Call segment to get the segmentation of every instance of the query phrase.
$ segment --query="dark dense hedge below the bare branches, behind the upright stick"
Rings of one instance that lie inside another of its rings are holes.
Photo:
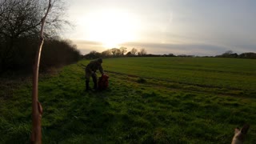
[[[6,45],[6,42],[1,42],[1,50],[5,50]],[[38,39],[18,38],[9,53],[1,54],[1,72],[22,70],[31,73],[37,46]],[[81,54],[72,42],[58,38],[46,39],[42,47],[40,70],[65,66],[78,62],[80,58]]]

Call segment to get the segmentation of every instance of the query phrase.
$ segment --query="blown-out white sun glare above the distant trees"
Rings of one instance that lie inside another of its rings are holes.
[[[86,15],[84,22],[86,40],[102,42],[106,48],[138,38],[138,19],[129,13],[102,10]]]

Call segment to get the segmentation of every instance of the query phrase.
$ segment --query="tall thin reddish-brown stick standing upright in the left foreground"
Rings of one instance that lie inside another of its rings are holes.
[[[42,143],[42,132],[41,132],[41,119],[42,119],[42,106],[40,102],[38,102],[38,71],[40,65],[40,57],[41,50],[43,45],[43,29],[46,22],[46,17],[50,11],[51,3],[49,0],[49,5],[46,10],[45,16],[42,18],[42,26],[40,30],[40,42],[38,44],[38,51],[34,61],[34,69],[33,69],[33,90],[32,90],[32,134],[30,138],[30,142],[34,144]]]

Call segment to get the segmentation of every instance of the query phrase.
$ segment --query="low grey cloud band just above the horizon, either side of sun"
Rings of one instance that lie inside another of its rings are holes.
[[[92,50],[102,52],[106,50],[102,46],[101,42],[92,42],[85,40],[73,40],[73,42],[78,46],[78,50],[82,54],[88,54]],[[197,56],[215,56],[225,53],[227,50],[232,50],[234,53],[245,53],[254,52],[256,53],[256,46],[250,44],[240,44],[234,46],[222,46],[213,45],[206,43],[150,43],[150,42],[125,42],[120,45],[126,46],[128,50],[136,48],[140,50],[144,48],[148,54],[186,54],[186,55],[197,55]]]

